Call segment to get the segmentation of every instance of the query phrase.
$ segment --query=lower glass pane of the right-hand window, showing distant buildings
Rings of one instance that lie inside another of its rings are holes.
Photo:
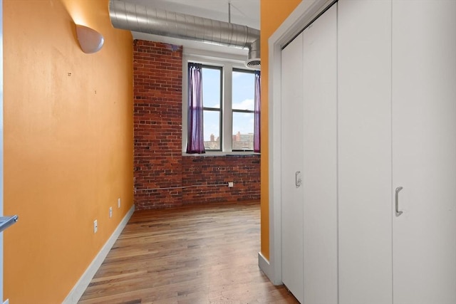
[[[254,150],[254,113],[233,112],[232,150]]]

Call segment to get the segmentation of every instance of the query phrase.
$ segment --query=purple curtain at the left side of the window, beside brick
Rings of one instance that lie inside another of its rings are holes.
[[[202,128],[202,65],[188,64],[188,140],[187,153],[204,153]]]

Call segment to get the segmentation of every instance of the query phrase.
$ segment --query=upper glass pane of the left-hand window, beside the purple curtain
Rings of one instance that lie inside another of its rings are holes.
[[[220,77],[219,68],[202,68],[202,103],[204,108],[220,108]]]

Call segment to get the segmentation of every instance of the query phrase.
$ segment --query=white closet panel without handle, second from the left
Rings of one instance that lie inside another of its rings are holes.
[[[304,303],[331,304],[338,301],[337,5],[303,34]]]

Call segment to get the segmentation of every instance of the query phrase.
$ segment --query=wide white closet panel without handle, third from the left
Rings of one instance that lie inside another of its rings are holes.
[[[340,304],[392,303],[390,54],[391,2],[339,1]]]

